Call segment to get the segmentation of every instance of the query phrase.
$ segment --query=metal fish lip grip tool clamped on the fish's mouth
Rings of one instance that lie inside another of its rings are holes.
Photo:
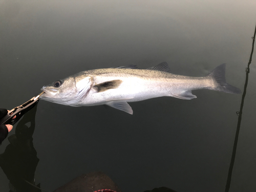
[[[45,93],[44,91],[39,95],[32,97],[27,102],[23,103],[22,105],[16,106],[11,111],[8,112],[6,116],[0,119],[0,124],[11,124],[14,125],[22,116],[31,110],[36,103],[39,101],[39,97]],[[15,117],[16,116],[16,117]],[[15,117],[15,118],[14,118]]]

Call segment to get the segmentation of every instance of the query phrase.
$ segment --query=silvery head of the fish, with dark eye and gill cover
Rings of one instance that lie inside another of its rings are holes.
[[[41,91],[45,93],[40,96],[40,99],[59,104],[78,106],[79,101],[83,97],[86,97],[93,83],[93,77],[78,73],[42,87]]]

